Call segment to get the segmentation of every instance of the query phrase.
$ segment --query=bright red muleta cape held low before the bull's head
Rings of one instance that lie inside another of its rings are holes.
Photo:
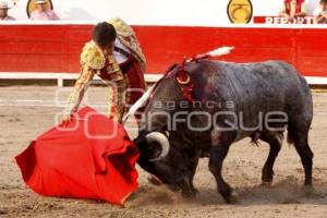
[[[137,158],[123,126],[89,107],[66,128],[51,129],[15,157],[24,181],[38,194],[118,205],[137,189]]]

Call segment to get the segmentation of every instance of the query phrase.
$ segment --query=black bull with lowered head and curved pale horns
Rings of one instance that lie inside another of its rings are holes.
[[[229,203],[233,190],[221,168],[230,145],[247,136],[267,142],[270,150],[262,180],[270,183],[287,129],[288,141],[304,167],[304,183],[312,185],[313,153],[307,137],[313,102],[307,83],[294,68],[280,61],[202,60],[186,63],[184,70],[191,78],[193,101],[185,100],[184,85],[177,81],[180,68],[171,68],[155,89],[135,140],[142,168],[173,190],[182,190],[183,196],[193,196],[198,159],[208,157],[217,190]]]

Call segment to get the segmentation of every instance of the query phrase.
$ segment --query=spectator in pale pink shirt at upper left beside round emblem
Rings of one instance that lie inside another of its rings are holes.
[[[37,0],[37,10],[32,12],[32,21],[57,21],[60,20],[58,15],[49,9],[48,2],[46,0]]]

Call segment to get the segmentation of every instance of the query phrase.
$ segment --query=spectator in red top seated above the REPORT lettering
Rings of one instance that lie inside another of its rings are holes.
[[[284,0],[279,15],[289,20],[306,16],[305,0]]]

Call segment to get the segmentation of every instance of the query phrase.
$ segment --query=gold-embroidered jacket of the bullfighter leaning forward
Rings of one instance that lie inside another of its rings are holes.
[[[134,31],[120,19],[113,19],[109,23],[116,27],[119,40],[130,49],[134,58],[141,63],[143,71],[145,71],[146,59]],[[72,113],[77,110],[88,83],[93,80],[94,74],[100,75],[100,70],[104,70],[106,65],[106,59],[109,63],[106,66],[106,73],[108,73],[110,80],[101,80],[109,84],[109,118],[122,122],[126,110],[125,104],[130,102],[130,94],[125,92],[130,87],[129,78],[123,75],[116,58],[112,55],[105,57],[94,41],[85,44],[81,53],[81,75],[69,97],[66,112]],[[117,87],[112,87],[108,83],[111,81],[116,82]]]

